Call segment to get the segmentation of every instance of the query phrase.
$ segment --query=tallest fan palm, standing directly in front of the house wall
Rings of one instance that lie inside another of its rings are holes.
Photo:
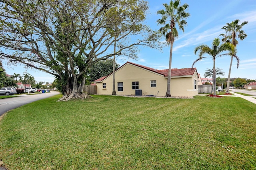
[[[184,32],[184,26],[187,24],[186,18],[190,16],[185,10],[188,8],[188,4],[180,5],[180,0],[171,0],[170,4],[163,4],[165,10],[159,10],[157,14],[161,14],[162,18],[157,20],[158,24],[164,25],[159,29],[166,38],[167,45],[170,45],[170,58],[169,58],[169,70],[167,79],[167,91],[166,97],[171,96],[170,94],[170,82],[171,82],[171,68],[172,68],[172,47],[175,38],[178,38],[178,30],[176,29],[176,24],[179,29]]]

